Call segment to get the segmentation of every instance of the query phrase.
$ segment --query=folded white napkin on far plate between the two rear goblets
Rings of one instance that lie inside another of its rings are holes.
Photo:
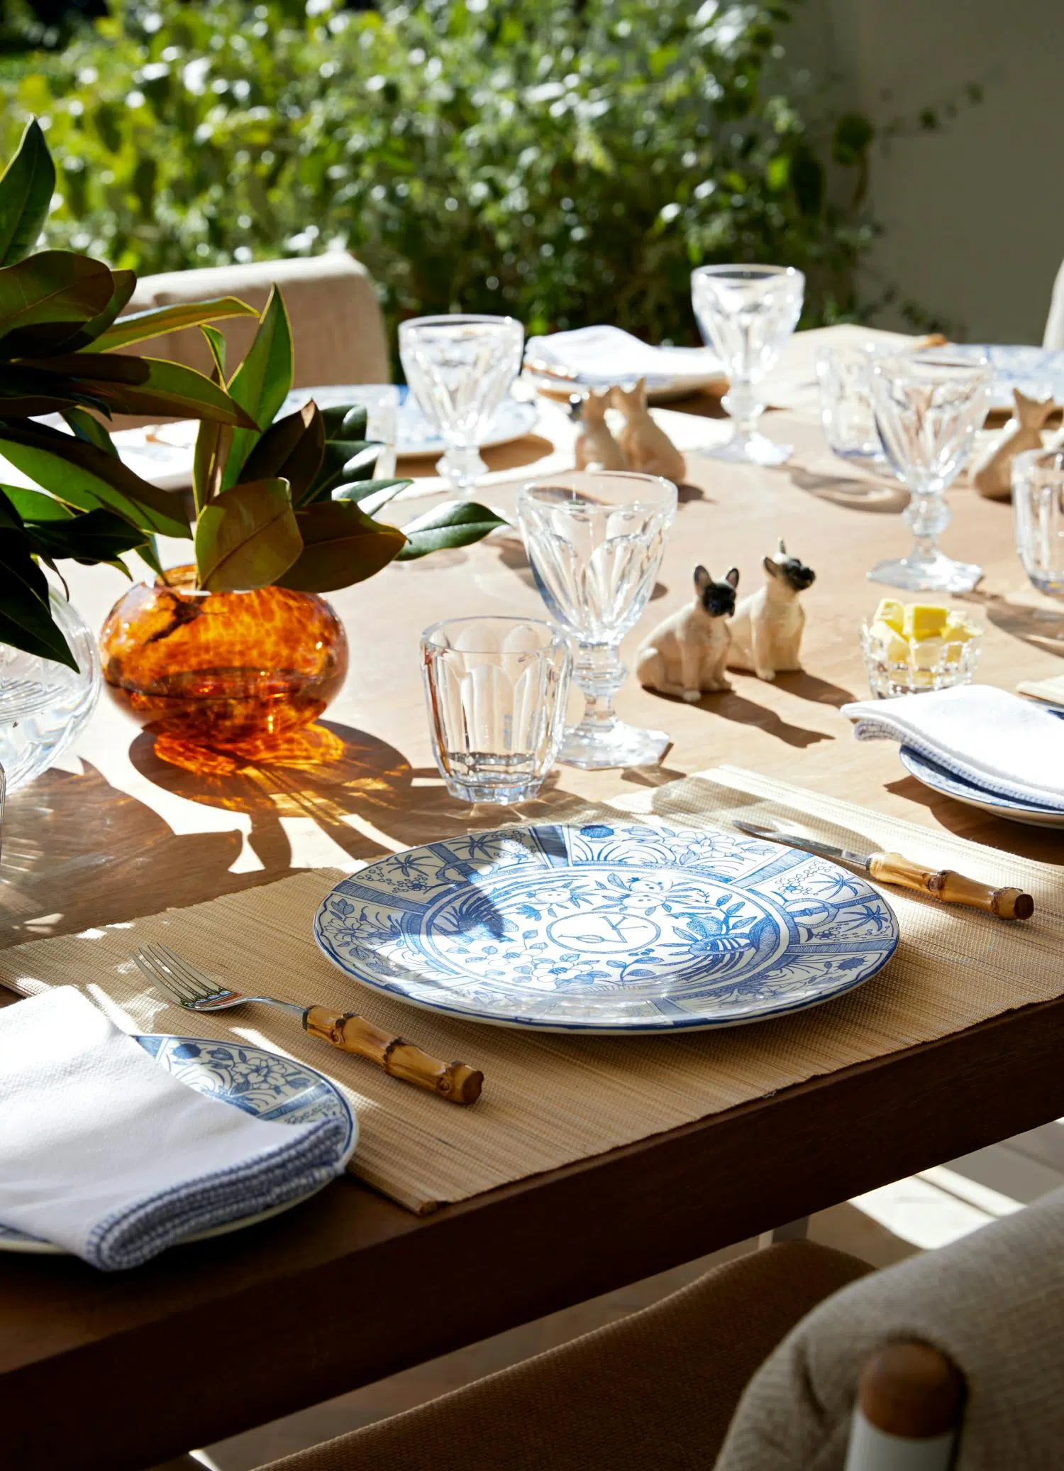
[[[578,327],[572,332],[529,337],[525,357],[569,372],[582,384],[614,384],[645,378],[664,387],[676,378],[719,378],[720,359],[708,347],[650,347],[620,327]]]

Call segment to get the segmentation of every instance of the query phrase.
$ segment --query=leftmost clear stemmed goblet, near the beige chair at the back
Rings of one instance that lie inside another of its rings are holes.
[[[513,316],[416,316],[400,324],[400,359],[410,391],[447,453],[438,469],[467,494],[488,466],[481,440],[520,372],[525,328]]]

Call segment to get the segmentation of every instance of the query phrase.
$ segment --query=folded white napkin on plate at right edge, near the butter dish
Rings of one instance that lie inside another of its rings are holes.
[[[898,740],[991,796],[1064,812],[1064,721],[989,684],[857,700],[858,740]]]

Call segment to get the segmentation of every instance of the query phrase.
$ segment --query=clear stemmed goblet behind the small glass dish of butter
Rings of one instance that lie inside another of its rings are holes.
[[[991,400],[986,357],[943,352],[876,359],[871,402],[886,457],[908,485],[902,519],[914,543],[908,556],[877,562],[873,583],[917,593],[968,593],[983,575],[974,562],[954,562],[938,544],[951,513],[943,491],[971,455]]]

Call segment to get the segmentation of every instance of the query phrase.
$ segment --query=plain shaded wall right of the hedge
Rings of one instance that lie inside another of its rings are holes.
[[[886,235],[866,285],[896,284],[970,341],[1040,343],[1064,257],[1064,4],[807,0],[797,28],[798,51],[873,122],[983,85],[941,134],[876,146]]]

